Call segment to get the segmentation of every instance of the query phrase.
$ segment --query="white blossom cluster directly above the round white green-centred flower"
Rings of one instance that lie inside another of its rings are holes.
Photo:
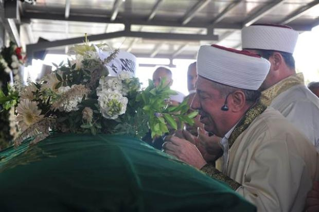
[[[96,89],[96,93],[99,96],[101,92],[104,91],[122,91],[122,81],[117,77],[102,77],[99,81],[99,86]]]

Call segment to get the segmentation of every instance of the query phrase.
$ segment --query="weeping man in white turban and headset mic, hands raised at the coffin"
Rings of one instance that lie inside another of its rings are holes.
[[[167,136],[163,149],[224,181],[258,211],[302,211],[318,179],[319,154],[285,117],[259,102],[269,68],[269,61],[247,51],[201,46],[191,107],[206,131],[222,137],[223,170],[207,164],[186,139]]]

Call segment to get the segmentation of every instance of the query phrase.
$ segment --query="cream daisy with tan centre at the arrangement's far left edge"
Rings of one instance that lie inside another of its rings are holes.
[[[40,115],[41,110],[38,108],[38,103],[29,99],[22,99],[17,105],[16,111],[16,120],[19,122],[21,131],[25,131],[44,117],[44,115]]]

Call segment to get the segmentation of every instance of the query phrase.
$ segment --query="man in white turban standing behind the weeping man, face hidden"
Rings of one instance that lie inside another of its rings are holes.
[[[242,48],[271,63],[260,90],[262,102],[278,110],[319,151],[319,99],[296,74],[292,56],[298,32],[284,25],[256,24],[242,29]]]

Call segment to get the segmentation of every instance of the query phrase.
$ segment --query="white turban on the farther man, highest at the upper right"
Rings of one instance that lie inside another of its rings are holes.
[[[241,30],[242,49],[277,50],[293,54],[298,32],[285,25],[256,24]]]

